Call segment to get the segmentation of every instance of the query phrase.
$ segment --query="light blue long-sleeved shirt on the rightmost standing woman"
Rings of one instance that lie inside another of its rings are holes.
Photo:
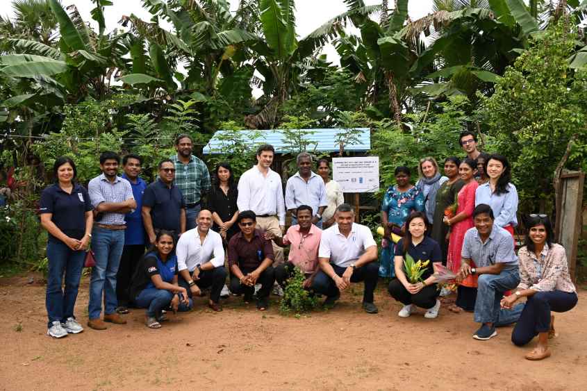
[[[498,226],[518,225],[518,190],[511,183],[508,183],[508,192],[497,194],[491,191],[489,183],[483,183],[475,192],[475,206],[479,203],[486,203],[493,210],[495,221]]]

